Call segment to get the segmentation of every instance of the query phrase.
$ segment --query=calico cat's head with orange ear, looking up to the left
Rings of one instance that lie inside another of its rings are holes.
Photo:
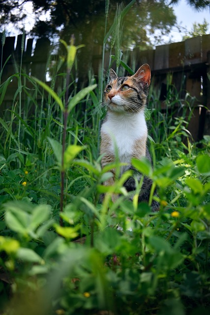
[[[113,69],[110,69],[109,76],[110,82],[104,91],[109,110],[130,113],[144,110],[151,79],[149,64],[143,64],[130,77],[118,77]]]

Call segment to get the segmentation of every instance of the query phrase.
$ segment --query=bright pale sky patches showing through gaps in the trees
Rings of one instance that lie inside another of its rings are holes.
[[[191,6],[187,5],[186,0],[180,0],[178,5],[174,5],[175,15],[177,16],[177,22],[182,27],[185,28],[188,32],[192,30],[193,23],[203,23],[204,18],[210,24],[210,10],[205,9],[202,11],[196,11]],[[31,3],[27,3],[25,6],[25,13],[28,16],[27,21],[25,21],[24,27],[26,32],[29,32],[33,26],[33,19],[32,19],[32,5]],[[41,19],[45,20],[46,16],[42,16]],[[7,32],[10,36],[17,35],[18,33],[15,29],[8,25]],[[210,33],[210,25],[209,25],[209,33]],[[179,32],[175,27],[172,28],[172,31],[169,36],[164,36],[163,40],[167,43],[169,40],[171,42],[179,42],[182,40],[182,36],[184,36],[186,32]]]

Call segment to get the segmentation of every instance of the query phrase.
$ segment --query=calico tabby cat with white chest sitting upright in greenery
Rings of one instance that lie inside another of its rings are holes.
[[[103,168],[115,161],[117,146],[120,162],[127,163],[127,166],[121,167],[120,173],[131,169],[134,177],[140,181],[142,174],[131,165],[131,158],[147,157],[151,161],[144,115],[151,79],[150,66],[147,63],[143,64],[134,75],[125,77],[118,77],[115,71],[110,69],[109,78],[110,82],[104,91],[107,114],[100,130],[101,166]],[[104,182],[105,186],[114,185],[115,169],[111,172],[113,177]],[[129,177],[123,185],[128,192],[136,189],[134,177]],[[152,181],[144,177],[139,202],[149,201],[151,185]],[[113,195],[112,200],[115,201],[117,197]],[[132,200],[132,196],[130,199]],[[157,211],[158,202],[152,200],[151,208],[152,211]]]

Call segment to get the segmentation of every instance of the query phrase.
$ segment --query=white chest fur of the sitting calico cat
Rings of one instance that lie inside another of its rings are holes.
[[[115,146],[121,162],[129,162],[135,141],[147,138],[147,125],[144,112],[108,112],[107,120],[101,126],[101,132],[111,138],[110,152],[115,153]]]

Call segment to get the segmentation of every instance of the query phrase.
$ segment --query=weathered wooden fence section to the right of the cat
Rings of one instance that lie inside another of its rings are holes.
[[[160,45],[154,50],[136,49],[132,54],[139,65],[150,64],[153,84],[160,89],[163,107],[168,74],[172,74],[172,84],[181,91],[182,97],[186,92],[196,97],[188,129],[195,141],[204,134],[210,135],[210,35]]]

